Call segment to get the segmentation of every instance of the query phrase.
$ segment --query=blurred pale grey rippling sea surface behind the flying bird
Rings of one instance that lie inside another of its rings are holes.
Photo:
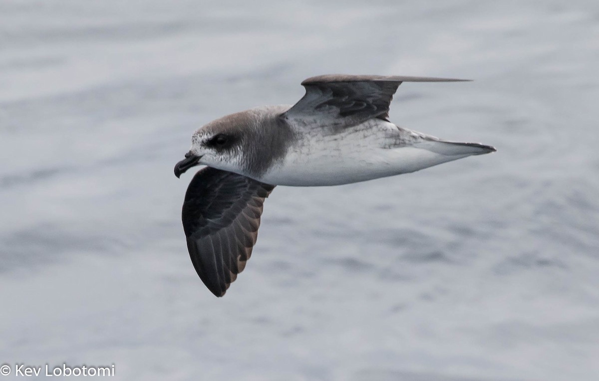
[[[404,83],[391,120],[498,152],[278,187],[215,298],[174,165],[204,123],[329,73],[473,79]],[[598,101],[596,0],[2,0],[0,363],[597,380]]]

